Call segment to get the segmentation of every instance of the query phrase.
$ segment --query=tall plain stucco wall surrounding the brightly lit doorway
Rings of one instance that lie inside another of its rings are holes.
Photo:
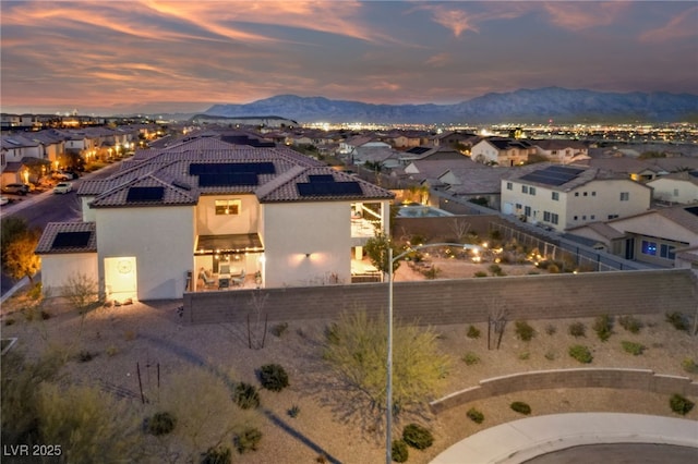
[[[139,300],[182,296],[194,266],[193,206],[99,208],[96,219],[100,276],[105,258],[134,257]]]

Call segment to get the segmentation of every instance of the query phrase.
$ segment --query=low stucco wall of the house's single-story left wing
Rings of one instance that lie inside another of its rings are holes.
[[[45,295],[60,296],[67,280],[79,276],[85,276],[98,284],[96,253],[41,255],[41,289]]]

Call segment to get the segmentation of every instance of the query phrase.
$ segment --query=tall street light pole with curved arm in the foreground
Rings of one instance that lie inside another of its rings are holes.
[[[385,464],[393,463],[393,265],[412,252],[435,246],[458,246],[462,249],[482,249],[480,245],[462,243],[431,243],[410,247],[406,252],[393,257],[393,244],[388,241],[388,354],[386,361],[387,381],[385,388]]]

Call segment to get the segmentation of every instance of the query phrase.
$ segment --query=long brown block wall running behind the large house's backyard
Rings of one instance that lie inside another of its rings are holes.
[[[243,322],[255,293],[266,296],[269,321],[334,318],[342,309],[369,315],[387,308],[386,283],[185,293],[185,323]],[[690,269],[636,270],[395,282],[394,315],[421,325],[585,318],[602,314],[694,315],[698,295]]]

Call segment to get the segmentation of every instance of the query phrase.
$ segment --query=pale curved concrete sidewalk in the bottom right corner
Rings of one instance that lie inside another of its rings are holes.
[[[622,413],[570,413],[502,424],[454,444],[431,464],[522,463],[582,444],[662,443],[696,448],[698,422]]]

